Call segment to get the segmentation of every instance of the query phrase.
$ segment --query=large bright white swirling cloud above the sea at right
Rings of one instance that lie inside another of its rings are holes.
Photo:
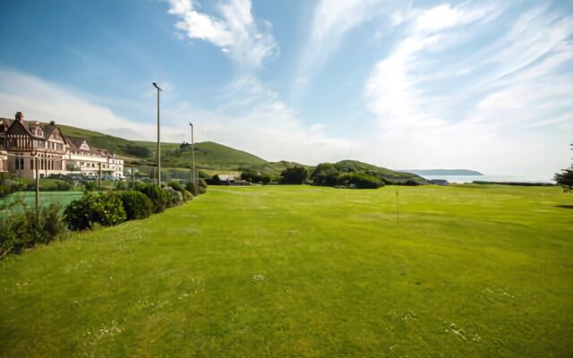
[[[388,166],[466,166],[549,179],[569,165],[573,81],[560,69],[572,61],[571,17],[536,9],[491,43],[469,52],[458,47],[500,13],[466,5],[416,12],[406,38],[374,66],[364,94],[381,129],[373,145],[392,149]],[[449,31],[454,27],[465,31]],[[449,55],[445,69],[440,55]]]

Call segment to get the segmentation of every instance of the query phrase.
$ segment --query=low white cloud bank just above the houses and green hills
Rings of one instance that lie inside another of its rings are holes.
[[[21,111],[27,120],[68,124],[136,141],[156,141],[155,107],[150,122],[117,115],[111,107],[96,104],[85,96],[30,74],[0,68],[1,116],[13,117]],[[244,93],[238,97],[237,93]],[[189,122],[196,141],[216,141],[243,149],[268,160],[290,160],[304,164],[348,158],[358,144],[332,138],[324,125],[307,127],[292,109],[253,78],[235,81],[224,96],[236,100],[216,112],[189,103],[165,103],[161,141],[189,141]]]

